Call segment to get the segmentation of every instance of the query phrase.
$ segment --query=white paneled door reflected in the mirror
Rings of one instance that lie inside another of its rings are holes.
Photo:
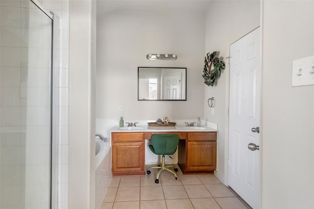
[[[164,74],[162,99],[181,99],[181,74]]]

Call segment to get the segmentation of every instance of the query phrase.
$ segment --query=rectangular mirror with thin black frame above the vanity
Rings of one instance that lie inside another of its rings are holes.
[[[186,68],[138,67],[137,100],[186,101]]]

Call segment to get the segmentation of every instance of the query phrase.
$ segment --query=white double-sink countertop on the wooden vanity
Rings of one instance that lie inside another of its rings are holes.
[[[136,127],[114,126],[110,132],[218,132],[217,129],[210,128],[208,126],[192,126],[187,127],[185,125],[176,126],[148,126],[148,125],[136,125]]]

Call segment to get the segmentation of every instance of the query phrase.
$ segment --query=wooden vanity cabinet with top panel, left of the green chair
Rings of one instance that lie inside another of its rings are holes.
[[[111,133],[112,176],[145,175],[143,132]]]

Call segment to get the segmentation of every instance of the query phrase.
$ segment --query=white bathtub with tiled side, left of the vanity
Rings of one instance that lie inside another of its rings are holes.
[[[95,140],[95,209],[99,209],[111,181],[111,146],[110,139]]]

